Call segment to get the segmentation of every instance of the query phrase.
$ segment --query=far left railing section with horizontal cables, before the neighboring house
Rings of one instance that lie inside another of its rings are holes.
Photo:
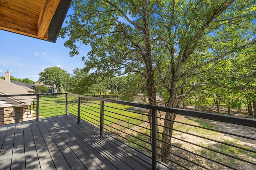
[[[65,114],[66,94],[0,95],[0,125]]]

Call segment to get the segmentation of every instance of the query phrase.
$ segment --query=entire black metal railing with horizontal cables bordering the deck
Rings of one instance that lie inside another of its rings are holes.
[[[23,115],[21,109],[10,115],[13,110],[2,107],[16,104],[17,101],[12,102],[16,96],[20,95],[0,96],[0,111],[4,108],[0,112],[4,115],[2,121],[0,115],[0,123],[10,123],[10,119],[14,123],[18,116]],[[31,116],[23,115],[23,121],[74,114],[78,123],[83,119],[99,127],[100,138],[114,136],[141,150],[152,160],[152,169],[158,166],[174,169],[256,169],[255,119],[69,93],[25,96],[27,99],[34,96],[34,101],[24,106],[28,111],[26,114]],[[18,102],[22,101],[26,103],[28,100],[24,98]],[[151,109],[152,115],[132,107]],[[166,119],[166,112],[176,114],[176,119]],[[5,121],[6,117],[8,121]],[[174,125],[168,128],[165,123]]]

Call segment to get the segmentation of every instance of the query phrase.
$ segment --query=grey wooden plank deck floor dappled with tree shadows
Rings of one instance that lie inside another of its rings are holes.
[[[100,139],[98,128],[70,114],[1,125],[0,170],[6,169],[143,170],[151,160],[111,136]]]

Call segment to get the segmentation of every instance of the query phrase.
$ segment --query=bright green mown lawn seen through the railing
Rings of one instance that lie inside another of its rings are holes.
[[[42,117],[50,117],[65,114],[65,97],[61,95],[46,95],[39,98],[39,115]],[[141,111],[129,111],[131,106],[124,106],[110,102],[104,103],[104,124],[115,125],[115,123],[123,126],[142,123],[141,120],[147,119],[146,115]],[[68,113],[77,115],[77,97],[68,96]],[[100,125],[100,101],[82,100],[80,103],[80,117],[93,124]],[[137,119],[132,119],[137,117]],[[126,122],[124,122],[126,121]],[[108,127],[108,126],[106,126]]]

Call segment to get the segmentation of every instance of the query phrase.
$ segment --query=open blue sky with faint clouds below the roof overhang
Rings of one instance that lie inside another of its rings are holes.
[[[65,39],[58,37],[56,43],[0,30],[0,76],[6,70],[15,78],[38,81],[39,73],[46,67],[59,66],[68,73],[76,67],[83,68],[82,56],[90,46],[82,46],[80,55],[70,57],[70,49],[64,47]]]

